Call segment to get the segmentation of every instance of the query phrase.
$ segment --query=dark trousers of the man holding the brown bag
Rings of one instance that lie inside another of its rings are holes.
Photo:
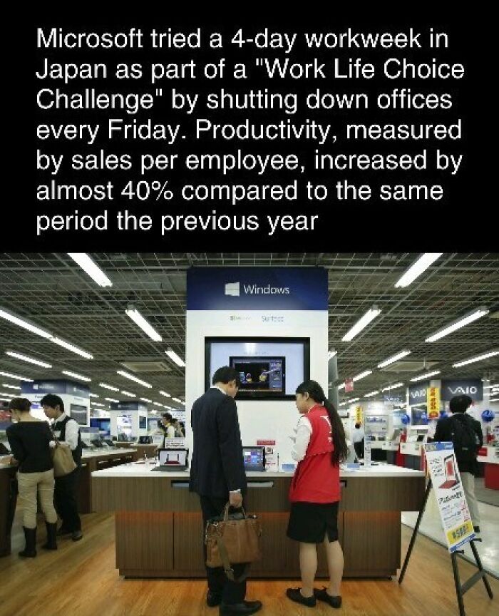
[[[202,524],[203,524],[203,553],[205,555],[206,563],[206,545],[204,529],[206,528],[207,520],[215,518],[220,515],[227,504],[228,498],[215,498],[211,496],[200,496],[201,510],[202,510]],[[244,564],[232,565],[234,570],[234,577],[239,578],[244,570]],[[221,595],[222,602],[226,605],[232,603],[240,603],[246,596],[246,580],[242,582],[231,582],[227,580],[227,576],[224,573],[222,567],[207,567],[206,575],[208,578],[208,588],[211,592],[215,592],[217,595]]]

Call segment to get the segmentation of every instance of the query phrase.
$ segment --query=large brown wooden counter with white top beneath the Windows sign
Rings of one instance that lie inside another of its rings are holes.
[[[115,511],[116,568],[126,577],[202,578],[202,517],[189,473],[132,463],[92,473],[93,510]],[[362,468],[362,467],[361,467]],[[245,508],[262,521],[257,578],[299,576],[298,544],[286,537],[292,473],[247,473]],[[421,507],[421,471],[391,465],[341,471],[338,516],[346,577],[389,577],[401,566],[401,511]],[[317,575],[328,575],[324,550]]]

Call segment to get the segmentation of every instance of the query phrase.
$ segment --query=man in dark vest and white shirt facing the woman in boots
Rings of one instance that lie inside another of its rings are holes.
[[[52,425],[54,436],[61,443],[71,448],[73,460],[76,463],[74,471],[63,477],[56,477],[56,488],[53,492],[54,505],[62,520],[57,535],[71,535],[73,541],[83,538],[81,520],[78,515],[78,479],[81,467],[81,435],[80,428],[74,419],[64,412],[64,403],[60,396],[47,394],[40,402],[48,419],[55,420]],[[53,443],[55,445],[55,443]]]

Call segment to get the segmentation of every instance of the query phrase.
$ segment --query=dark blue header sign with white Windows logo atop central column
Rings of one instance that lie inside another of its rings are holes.
[[[187,310],[327,310],[323,267],[192,267]]]

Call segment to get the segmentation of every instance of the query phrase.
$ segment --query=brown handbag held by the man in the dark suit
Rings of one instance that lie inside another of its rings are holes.
[[[246,515],[244,509],[242,513],[229,515],[229,507],[227,503],[223,515],[206,523],[206,565],[223,567],[229,580],[242,582],[247,577],[249,563],[262,558],[262,525],[256,515]],[[240,578],[234,578],[231,564],[239,563],[247,563],[247,567]]]

